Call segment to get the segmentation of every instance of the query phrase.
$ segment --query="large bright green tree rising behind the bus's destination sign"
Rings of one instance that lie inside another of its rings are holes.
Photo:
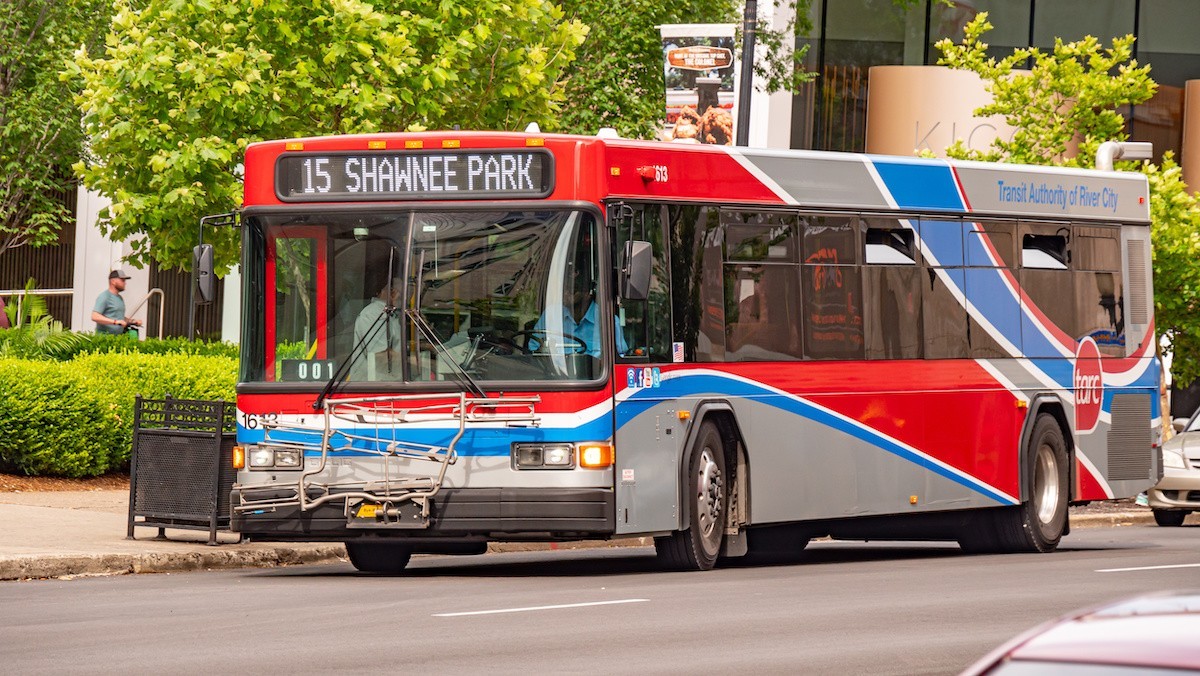
[[[102,50],[66,77],[101,223],[134,263],[187,264],[199,217],[241,203],[266,138],[551,122],[587,29],[546,0],[118,0]],[[144,235],[144,237],[139,237]],[[218,267],[235,234],[205,233]]]

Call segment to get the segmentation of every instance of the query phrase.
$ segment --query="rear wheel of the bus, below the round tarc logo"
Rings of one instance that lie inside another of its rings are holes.
[[[1033,424],[1025,457],[1028,499],[996,513],[1001,551],[1054,551],[1067,531],[1067,442],[1052,415]]]

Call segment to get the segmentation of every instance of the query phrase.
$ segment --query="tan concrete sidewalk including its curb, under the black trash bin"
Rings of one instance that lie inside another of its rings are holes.
[[[266,568],[346,561],[341,544],[239,544],[222,533],[222,544],[209,546],[206,531],[139,527],[125,538],[128,491],[0,492],[0,580],[174,573],[217,568]],[[1072,508],[1072,527],[1153,524],[1148,508],[1129,505]],[[558,545],[644,545],[646,539]],[[493,551],[550,549],[552,545],[514,544]],[[557,549],[556,548],[556,549]]]

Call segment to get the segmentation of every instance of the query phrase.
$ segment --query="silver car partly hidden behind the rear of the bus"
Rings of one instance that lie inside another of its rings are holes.
[[[1159,526],[1182,526],[1200,510],[1200,409],[1171,424],[1176,435],[1163,444],[1163,479],[1146,496]]]

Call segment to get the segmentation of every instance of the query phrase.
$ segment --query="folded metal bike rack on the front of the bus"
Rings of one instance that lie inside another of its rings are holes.
[[[438,401],[442,399],[443,401]],[[431,402],[432,400],[432,402]],[[394,395],[326,400],[323,425],[264,421],[262,445],[295,449],[301,457],[319,451],[320,462],[305,469],[295,479],[265,484],[245,484],[240,489],[234,510],[274,512],[282,507],[299,507],[308,512],[325,503],[342,501],[349,528],[427,528],[430,504],[442,490],[446,468],[458,460],[457,444],[467,425],[502,424],[538,426],[540,418],[534,405],[540,396],[474,397],[467,393],[449,396]],[[367,424],[376,433],[334,429],[334,420]],[[397,438],[406,424],[455,421],[458,431],[446,445],[428,445]],[[388,430],[388,436],[379,432]],[[276,439],[272,441],[271,436]],[[317,437],[307,441],[305,437]],[[280,438],[286,437],[286,438]],[[340,444],[335,448],[334,441]],[[358,442],[358,445],[355,445]],[[383,459],[382,480],[322,481],[316,477],[325,472],[330,454],[342,450],[371,453]],[[426,460],[437,465],[436,473],[392,478],[391,463],[400,460]]]

